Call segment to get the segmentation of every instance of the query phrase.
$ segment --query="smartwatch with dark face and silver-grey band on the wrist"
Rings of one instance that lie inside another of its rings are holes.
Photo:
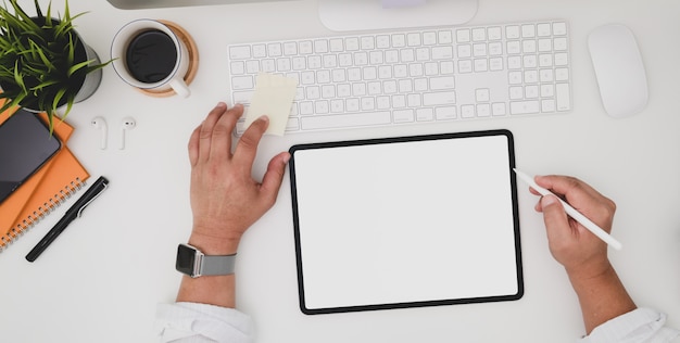
[[[175,269],[192,278],[202,276],[234,274],[236,254],[206,256],[200,250],[189,244],[177,246],[177,263]]]

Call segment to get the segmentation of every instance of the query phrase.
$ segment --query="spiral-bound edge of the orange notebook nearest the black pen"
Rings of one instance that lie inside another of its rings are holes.
[[[38,221],[40,221],[45,216],[52,213],[56,207],[63,204],[66,200],[71,199],[71,196],[78,192],[83,187],[85,187],[87,182],[81,180],[80,178],[76,178],[74,181],[71,181],[68,185],[64,186],[59,190],[58,193],[54,193],[53,196],[48,199],[42,206],[38,206],[36,211],[33,212],[32,215],[28,215],[26,218],[22,219],[15,227],[11,228],[5,234],[0,237],[0,253],[10,244],[14,242],[18,237],[23,236],[28,229],[33,228]]]

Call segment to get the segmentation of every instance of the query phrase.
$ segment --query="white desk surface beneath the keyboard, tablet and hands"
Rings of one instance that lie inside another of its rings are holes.
[[[62,9],[62,0],[53,1]],[[154,342],[158,303],[172,302],[180,275],[176,245],[191,229],[191,130],[227,100],[226,47],[249,40],[331,35],[315,0],[122,11],[105,0],[72,0],[80,34],[109,58],[116,30],[140,17],[174,21],[196,39],[200,68],[189,99],[154,99],[127,87],[111,67],[97,93],[68,116],[68,142],[93,178],[111,189],[92,203],[40,258],[26,253],[66,205],[0,254],[0,339],[7,342]],[[680,328],[680,2],[676,0],[479,0],[470,24],[566,18],[570,24],[574,112],[265,138],[255,164],[293,143],[507,128],[517,165],[529,173],[578,176],[618,204],[614,236],[625,247],[610,258],[639,306],[669,314]],[[627,119],[600,102],[587,35],[607,23],[628,25],[646,65],[650,103]],[[109,123],[109,149],[89,126]],[[119,122],[137,119],[119,151]],[[305,316],[298,307],[288,175],[276,206],[245,234],[238,261],[238,305],[256,322],[257,342],[572,342],[583,333],[577,298],[553,261],[536,198],[519,195],[525,296],[516,302]],[[405,275],[408,277],[408,275]]]

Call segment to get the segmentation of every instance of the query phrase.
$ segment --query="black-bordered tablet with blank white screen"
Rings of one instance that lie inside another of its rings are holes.
[[[507,130],[294,145],[304,314],[518,300]]]

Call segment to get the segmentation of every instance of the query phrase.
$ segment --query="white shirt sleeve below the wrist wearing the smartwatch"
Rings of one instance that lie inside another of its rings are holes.
[[[159,304],[155,329],[161,343],[251,343],[251,318],[234,308],[206,304]]]

